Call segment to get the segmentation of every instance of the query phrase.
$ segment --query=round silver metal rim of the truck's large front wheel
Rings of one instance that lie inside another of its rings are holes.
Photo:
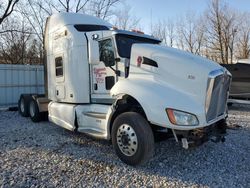
[[[138,148],[138,140],[135,130],[128,124],[121,125],[117,130],[117,144],[121,152],[126,156],[132,156]]]

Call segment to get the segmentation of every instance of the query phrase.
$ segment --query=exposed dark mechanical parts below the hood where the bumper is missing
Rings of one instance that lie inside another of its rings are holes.
[[[197,128],[189,131],[174,130],[178,141],[182,141],[182,146],[187,149],[193,146],[199,146],[209,140],[213,142],[224,142],[226,135],[226,119],[222,119],[214,124],[203,128]]]

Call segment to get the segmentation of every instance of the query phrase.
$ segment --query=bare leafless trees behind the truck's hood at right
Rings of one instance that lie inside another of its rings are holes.
[[[159,20],[152,34],[165,45],[232,64],[250,58],[249,17],[249,12],[238,12],[222,0],[211,0],[199,15],[187,12],[179,20]]]

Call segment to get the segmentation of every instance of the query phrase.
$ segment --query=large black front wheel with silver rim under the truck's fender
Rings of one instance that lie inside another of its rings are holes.
[[[136,112],[125,112],[115,119],[112,144],[118,157],[128,165],[144,164],[154,154],[152,129]]]

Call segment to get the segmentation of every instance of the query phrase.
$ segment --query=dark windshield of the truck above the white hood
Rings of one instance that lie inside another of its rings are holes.
[[[130,58],[131,47],[132,44],[135,43],[159,44],[160,41],[149,38],[137,37],[133,35],[126,35],[126,34],[116,35],[116,44],[118,48],[118,54],[120,57]]]

